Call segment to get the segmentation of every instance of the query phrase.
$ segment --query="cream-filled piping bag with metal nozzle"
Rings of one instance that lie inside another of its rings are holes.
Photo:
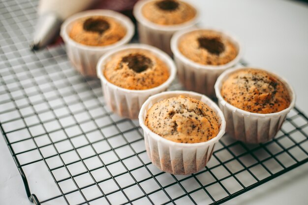
[[[74,13],[86,10],[96,0],[40,0],[38,21],[31,50],[47,46],[59,34],[62,22]]]

